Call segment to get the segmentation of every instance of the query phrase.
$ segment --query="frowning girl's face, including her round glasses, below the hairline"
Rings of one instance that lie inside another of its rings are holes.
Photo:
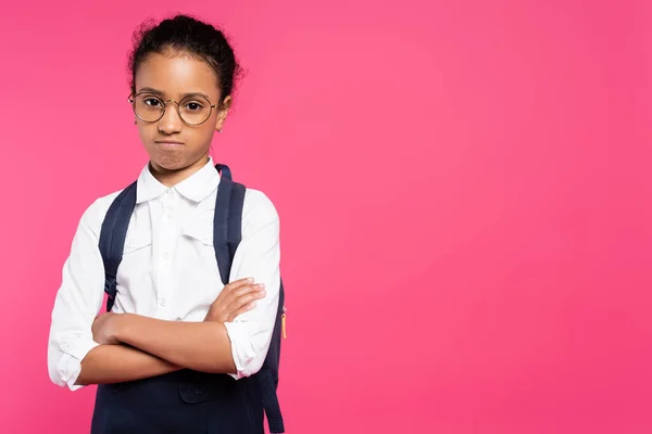
[[[214,71],[185,53],[153,53],[138,66],[134,85],[136,124],[153,168],[203,166],[230,105],[230,97],[220,104]]]

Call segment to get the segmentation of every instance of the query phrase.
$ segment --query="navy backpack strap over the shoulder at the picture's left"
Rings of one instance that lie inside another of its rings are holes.
[[[124,189],[113,201],[100,231],[99,247],[104,261],[104,292],[106,311],[111,311],[117,295],[117,267],[122,261],[127,228],[136,207],[136,182]]]

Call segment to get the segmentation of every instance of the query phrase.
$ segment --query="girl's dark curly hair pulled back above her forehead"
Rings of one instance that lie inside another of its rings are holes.
[[[217,76],[222,101],[235,90],[241,74],[234,50],[224,33],[192,16],[176,15],[159,24],[147,21],[134,33],[129,55],[129,88],[136,93],[136,71],[151,53],[178,51],[206,62]]]

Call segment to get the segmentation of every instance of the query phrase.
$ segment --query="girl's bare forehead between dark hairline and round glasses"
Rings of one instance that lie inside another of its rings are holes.
[[[215,72],[205,62],[183,53],[148,55],[136,71],[135,85],[137,93],[148,87],[162,91],[166,98],[192,92],[220,98]]]

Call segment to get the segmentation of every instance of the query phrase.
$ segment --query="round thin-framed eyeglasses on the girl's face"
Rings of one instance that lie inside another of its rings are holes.
[[[155,123],[165,114],[167,103],[174,102],[177,105],[177,112],[181,120],[190,126],[197,126],[205,123],[211,117],[213,108],[217,104],[211,104],[208,98],[200,94],[189,94],[179,102],[175,100],[163,101],[155,93],[145,91],[129,95],[129,102],[134,107],[134,113],[138,118],[146,123]]]

